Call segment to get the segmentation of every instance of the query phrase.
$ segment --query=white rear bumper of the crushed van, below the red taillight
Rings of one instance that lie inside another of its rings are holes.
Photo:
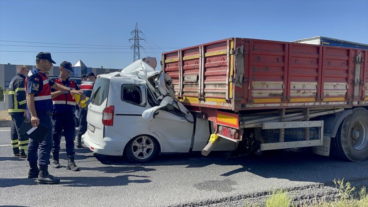
[[[89,138],[88,133],[82,135],[84,144],[90,148],[92,152],[101,155],[112,155],[112,156],[123,156],[123,146],[121,142],[115,142],[109,137],[104,137],[101,144],[92,142]]]

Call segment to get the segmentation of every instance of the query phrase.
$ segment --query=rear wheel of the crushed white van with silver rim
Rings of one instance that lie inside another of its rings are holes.
[[[124,156],[133,163],[150,162],[158,155],[159,147],[155,138],[140,135],[128,142],[124,149]]]

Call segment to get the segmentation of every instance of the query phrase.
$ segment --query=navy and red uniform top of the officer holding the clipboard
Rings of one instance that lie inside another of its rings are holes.
[[[25,79],[25,92],[34,94],[34,105],[38,115],[46,114],[47,111],[52,109],[51,86],[54,84],[52,80],[47,79],[40,69],[35,68],[29,71]]]

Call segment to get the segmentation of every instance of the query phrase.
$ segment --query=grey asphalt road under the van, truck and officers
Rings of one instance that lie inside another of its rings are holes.
[[[244,206],[244,199],[280,188],[327,192],[324,186],[333,186],[335,178],[355,186],[368,184],[368,160],[345,162],[308,150],[230,158],[223,153],[172,154],[135,165],[83,148],[76,149],[82,171],[71,172],[65,169],[62,143],[63,168],[49,168],[60,184],[37,185],[27,178],[28,162],[12,156],[9,135],[9,128],[0,128],[0,206]]]

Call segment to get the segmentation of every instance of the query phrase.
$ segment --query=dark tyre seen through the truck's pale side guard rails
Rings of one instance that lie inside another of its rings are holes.
[[[265,143],[276,143],[279,140],[279,129],[262,130],[262,136]],[[309,140],[318,139],[318,131],[314,127],[309,127]],[[303,141],[305,140],[304,128],[288,128],[284,131],[284,141]]]

